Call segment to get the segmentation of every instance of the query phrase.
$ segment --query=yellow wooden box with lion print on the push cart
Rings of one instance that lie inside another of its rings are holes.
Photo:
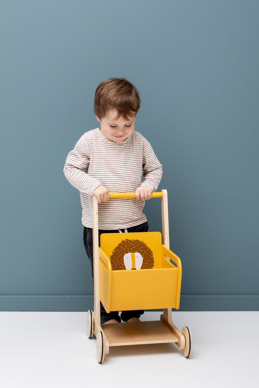
[[[114,270],[111,258],[116,247],[122,246],[125,241],[128,245],[131,244],[131,247],[128,249],[129,252],[125,250],[126,248],[122,250],[121,260],[123,262],[123,254],[126,252],[126,258],[132,260],[132,269],[125,269],[122,265],[123,269]],[[152,252],[154,259],[152,268],[136,269],[137,255],[140,253],[144,257],[142,268],[145,267],[145,247]],[[181,261],[162,244],[160,232],[102,234],[99,247],[99,275],[100,300],[107,313],[179,308]]]

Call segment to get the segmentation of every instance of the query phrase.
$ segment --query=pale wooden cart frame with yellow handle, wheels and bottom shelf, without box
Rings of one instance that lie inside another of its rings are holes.
[[[152,193],[152,198],[161,197],[163,245],[169,249],[168,200],[167,191]],[[110,193],[110,198],[135,198],[135,193]],[[87,336],[96,336],[96,356],[103,362],[110,346],[140,345],[148,343],[172,343],[180,349],[184,357],[192,351],[190,329],[185,326],[182,332],[172,322],[172,308],[163,310],[159,321],[101,324],[100,321],[100,280],[98,242],[98,201],[93,196],[93,258],[94,258],[94,314],[87,312]]]

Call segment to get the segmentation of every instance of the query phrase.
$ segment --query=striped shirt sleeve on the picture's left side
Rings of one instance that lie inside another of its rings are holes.
[[[93,195],[100,182],[87,174],[90,154],[87,143],[78,140],[75,148],[69,152],[64,166],[64,174],[73,187],[84,194]]]

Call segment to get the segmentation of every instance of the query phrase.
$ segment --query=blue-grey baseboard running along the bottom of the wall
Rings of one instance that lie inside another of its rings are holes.
[[[93,310],[93,295],[0,296],[0,311]],[[259,295],[182,295],[179,311],[258,311]]]

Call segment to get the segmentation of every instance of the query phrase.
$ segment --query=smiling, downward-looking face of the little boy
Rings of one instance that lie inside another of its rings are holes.
[[[125,120],[122,116],[115,120],[118,112],[114,109],[108,111],[107,115],[101,120],[96,116],[97,120],[101,123],[101,133],[109,140],[115,143],[122,143],[127,137],[134,131],[135,116]]]

